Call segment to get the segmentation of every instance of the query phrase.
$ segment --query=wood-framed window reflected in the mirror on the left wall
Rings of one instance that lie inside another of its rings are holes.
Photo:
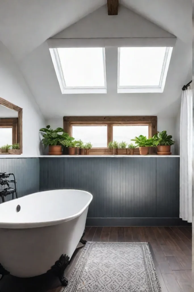
[[[18,118],[0,119],[0,146],[18,143]]]

